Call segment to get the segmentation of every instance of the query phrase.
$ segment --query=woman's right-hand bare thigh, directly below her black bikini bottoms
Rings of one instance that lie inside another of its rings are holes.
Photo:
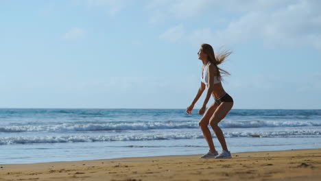
[[[214,114],[212,114],[210,118],[210,124],[211,125],[217,125],[219,121],[222,121],[224,117],[226,117],[226,114],[232,109],[233,107],[233,102],[222,102],[217,106]]]

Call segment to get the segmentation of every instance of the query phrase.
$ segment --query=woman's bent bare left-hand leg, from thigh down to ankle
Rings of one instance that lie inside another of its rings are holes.
[[[212,104],[204,113],[202,119],[200,119],[200,122],[198,125],[200,125],[200,128],[203,132],[204,138],[206,139],[207,144],[209,145],[209,149],[211,152],[215,152],[216,149],[214,147],[213,139],[211,131],[208,128],[209,120],[211,119],[212,115],[214,114],[215,110],[217,108],[217,105],[214,103]]]

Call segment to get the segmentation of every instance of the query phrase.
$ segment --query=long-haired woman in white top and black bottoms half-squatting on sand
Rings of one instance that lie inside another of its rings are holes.
[[[195,96],[191,106],[187,107],[187,114],[191,114],[191,110],[195,103],[198,101],[202,93],[204,92],[206,86],[208,88],[206,97],[204,99],[204,103],[202,108],[198,111],[198,114],[205,114],[203,115],[202,119],[200,119],[199,125],[203,132],[204,138],[206,139],[207,143],[209,144],[209,153],[204,154],[200,158],[232,158],[228,148],[226,146],[224,134],[219,128],[218,123],[224,117],[230,109],[233,107],[233,99],[225,92],[222,86],[222,75],[227,74],[228,72],[224,71],[217,67],[218,64],[221,64],[226,60],[226,57],[230,55],[231,52],[225,51],[217,56],[214,54],[213,47],[209,44],[202,44],[200,50],[198,51],[198,59],[202,60],[202,76],[201,76],[201,85],[198,89],[198,93]],[[209,101],[209,98],[213,95],[215,102],[205,111],[206,104]],[[222,153],[218,154],[214,144],[211,132],[208,128],[208,125],[211,125],[213,131],[216,134],[219,143],[222,145]]]

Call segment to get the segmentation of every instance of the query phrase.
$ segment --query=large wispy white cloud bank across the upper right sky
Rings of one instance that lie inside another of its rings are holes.
[[[215,19],[222,19],[223,16],[226,21],[216,21],[213,27],[198,27],[189,31],[185,29],[185,37],[180,38],[185,42],[202,43],[206,40],[222,45],[260,39],[269,47],[309,46],[321,51],[321,12],[318,8],[321,1],[201,0],[198,5],[181,0],[166,2],[160,8],[151,5],[150,9],[164,12],[166,15],[163,18],[167,19],[188,19],[191,16],[209,19],[210,13]],[[215,7],[217,13],[210,7]],[[225,16],[226,12],[236,15],[226,19],[219,12],[225,12]],[[170,27],[163,34],[174,36],[177,32],[173,29],[175,27]],[[172,38],[169,40],[173,42]]]

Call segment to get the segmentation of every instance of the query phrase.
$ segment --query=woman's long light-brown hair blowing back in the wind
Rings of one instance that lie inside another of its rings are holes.
[[[204,53],[207,54],[207,59],[215,65],[215,67],[217,68],[217,77],[219,80],[222,80],[222,74],[224,75],[230,75],[230,73],[228,73],[228,71],[224,71],[223,69],[219,68],[217,65],[218,64],[222,64],[222,62],[225,62],[226,58],[230,55],[230,53],[232,53],[232,51],[228,51],[228,50],[223,50],[223,51],[219,51],[219,53],[216,54],[214,53],[214,49],[211,45],[203,43],[201,45],[202,47],[202,51],[204,51]]]

